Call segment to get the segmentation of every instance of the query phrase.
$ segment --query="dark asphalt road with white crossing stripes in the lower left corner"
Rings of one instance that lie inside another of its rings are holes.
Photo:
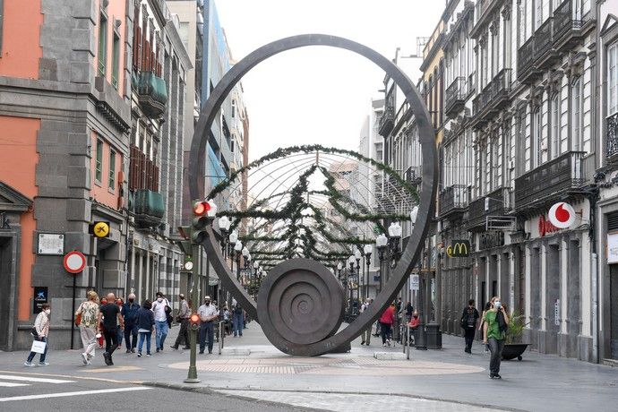
[[[222,394],[174,391],[123,382],[85,380],[43,373],[0,373],[0,410],[105,411],[206,410],[305,411],[288,405],[237,399]]]

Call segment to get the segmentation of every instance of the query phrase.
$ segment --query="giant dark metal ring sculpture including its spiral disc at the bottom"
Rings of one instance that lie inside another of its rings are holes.
[[[217,87],[212,90],[210,98],[202,108],[191,144],[189,190],[192,199],[203,198],[199,182],[200,176],[205,175],[203,170],[206,143],[208,142],[210,127],[227,94],[255,65],[283,51],[305,46],[343,48],[365,56],[381,67],[406,96],[416,116],[423,154],[419,210],[408,245],[401,254],[397,266],[392,270],[391,278],[382,288],[382,292],[376,296],[373,305],[356,317],[356,320],[350,323],[347,328],[338,333],[335,333],[335,331],[340,324],[343,297],[340,297],[341,305],[337,307],[339,305],[339,297],[337,296],[339,285],[330,290],[331,295],[324,294],[323,288],[329,288],[329,281],[324,273],[324,270],[328,270],[321,263],[295,259],[279,264],[278,267],[270,271],[269,277],[262,284],[256,305],[253,298],[236,281],[236,277],[227,267],[214,232],[211,227],[208,229],[209,236],[204,241],[203,246],[210,257],[212,267],[219,275],[221,284],[236,296],[247,313],[262,324],[264,333],[270,342],[282,352],[290,355],[317,356],[337,350],[363,333],[380,317],[384,309],[397,296],[399,289],[406,283],[408,274],[423,249],[425,236],[429,230],[429,222],[433,216],[438,162],[433,125],[430,122],[425,103],[414,84],[410,82],[405,73],[399,70],[397,65],[373,49],[354,41],[323,34],[306,34],[280,39],[256,49],[235,64],[223,76]],[[328,303],[324,300],[326,296],[328,296]],[[322,305],[322,307],[318,308],[316,305]],[[290,321],[283,319],[282,315],[292,315],[293,318]],[[339,321],[315,324],[317,317],[328,317],[330,320]],[[314,339],[309,335],[312,335]]]

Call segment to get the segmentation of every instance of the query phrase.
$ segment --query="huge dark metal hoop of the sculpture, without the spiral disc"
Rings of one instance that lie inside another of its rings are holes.
[[[212,90],[209,99],[202,108],[202,113],[195,126],[193,141],[191,143],[191,155],[189,158],[189,190],[192,199],[202,199],[203,190],[199,185],[200,172],[203,171],[206,143],[208,142],[210,127],[229,92],[255,65],[281,52],[307,46],[338,47],[365,56],[382,68],[393,82],[397,84],[399,89],[406,96],[410,108],[416,117],[416,126],[418,127],[423,153],[423,179],[421,183],[418,215],[410,240],[408,241],[406,249],[401,254],[397,266],[391,273],[391,279],[384,285],[382,292],[376,296],[373,305],[356,317],[356,320],[350,323],[346,329],[322,341],[305,345],[278,345],[277,343],[279,342],[272,342],[279,350],[295,356],[318,356],[342,347],[346,343],[352,341],[352,339],[360,336],[364,330],[372,325],[392,302],[395,296],[397,296],[399,289],[405,285],[409,273],[423,250],[425,237],[429,230],[429,222],[434,212],[438,177],[438,161],[433,125],[431,124],[429,112],[425,107],[425,103],[421,99],[414,84],[408,79],[408,76],[403,73],[396,64],[393,64],[391,60],[369,47],[336,36],[305,34],[279,39],[254,50],[250,55],[235,64],[226,75],[223,76],[219,84],[217,84],[217,87]],[[227,263],[221,254],[212,227],[208,228],[208,234],[209,236],[204,241],[203,246],[210,257],[210,263],[219,275],[222,285],[232,292],[234,296],[236,296],[236,300],[245,307],[247,313],[259,322],[260,316],[257,311],[257,305],[251,296],[246,293],[245,288],[236,281],[236,277],[227,267]]]

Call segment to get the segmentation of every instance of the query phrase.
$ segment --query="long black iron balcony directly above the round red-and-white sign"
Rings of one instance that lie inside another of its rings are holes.
[[[515,179],[515,207],[527,210],[554,201],[561,194],[578,192],[584,184],[581,151],[568,151]]]

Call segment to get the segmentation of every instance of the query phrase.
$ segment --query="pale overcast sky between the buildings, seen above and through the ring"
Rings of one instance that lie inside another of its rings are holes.
[[[270,41],[306,33],[355,40],[389,58],[416,54],[430,37],[443,0],[216,0],[236,60]],[[420,59],[417,60],[420,64]],[[412,75],[416,83],[420,72]],[[365,57],[303,47],[271,57],[243,79],[250,119],[250,158],[279,147],[320,143],[357,149],[384,73]]]

